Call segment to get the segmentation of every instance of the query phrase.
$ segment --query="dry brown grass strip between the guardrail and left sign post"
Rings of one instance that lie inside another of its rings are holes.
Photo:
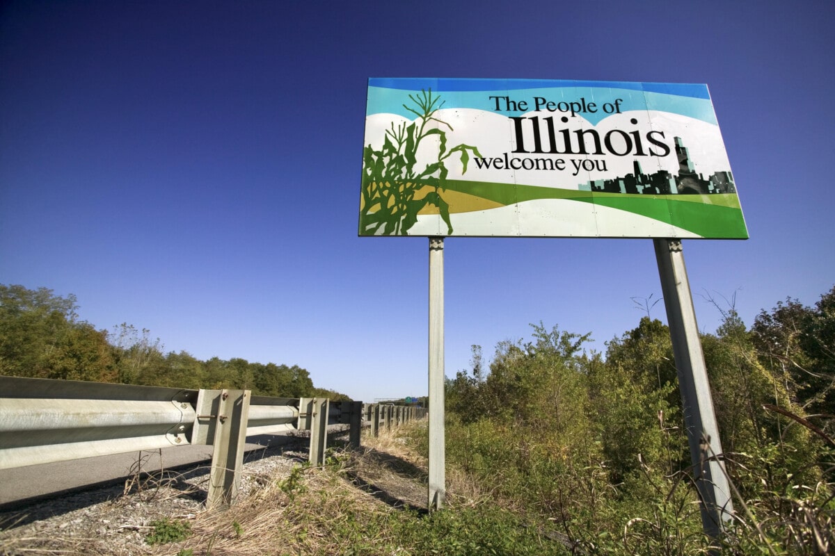
[[[403,509],[426,508],[426,461],[404,438],[420,427],[363,438],[362,448],[333,452],[323,468],[300,467],[289,479],[271,478],[232,508],[198,514],[190,538],[153,553],[340,554],[357,542],[367,553],[392,553],[392,547],[407,553],[380,524]]]

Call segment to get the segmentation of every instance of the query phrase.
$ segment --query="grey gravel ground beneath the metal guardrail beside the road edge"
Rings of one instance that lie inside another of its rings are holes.
[[[306,461],[306,448],[270,448],[245,462],[240,494],[266,478],[289,476]],[[205,510],[209,468],[154,473],[122,485],[73,493],[0,513],[0,553],[142,554],[150,523],[161,518],[188,520]]]

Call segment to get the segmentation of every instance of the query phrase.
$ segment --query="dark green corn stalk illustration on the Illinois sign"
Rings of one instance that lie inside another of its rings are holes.
[[[410,94],[409,98],[414,108],[406,104],[403,108],[417,115],[417,119],[398,126],[392,122],[380,150],[375,150],[370,144],[364,149],[360,203],[362,235],[408,235],[409,228],[417,223],[417,213],[429,205],[438,208],[443,222],[447,224],[447,233],[453,233],[449,204],[442,197],[448,174],[447,160],[457,153],[463,165],[462,173],[466,173],[471,153],[481,156],[478,148],[463,143],[447,148],[447,133],[442,126],[454,130],[448,123],[435,118],[435,113],[443,107],[443,101],[438,95],[433,97],[432,89]],[[431,135],[438,136],[438,159],[423,169],[415,168],[419,166],[417,149],[421,141]],[[416,198],[426,186],[434,190]]]

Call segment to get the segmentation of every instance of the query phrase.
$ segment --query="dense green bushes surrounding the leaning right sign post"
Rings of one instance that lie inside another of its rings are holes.
[[[572,553],[835,550],[827,417],[804,413],[796,395],[807,390],[762,363],[736,313],[702,338],[736,488],[720,541],[702,532],[669,330],[642,318],[605,358],[579,353],[585,338],[540,324],[530,343],[499,344],[489,373],[449,381],[448,463],[500,507],[557,525]]]

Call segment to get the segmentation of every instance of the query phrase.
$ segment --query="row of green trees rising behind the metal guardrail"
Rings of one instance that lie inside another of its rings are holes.
[[[174,388],[248,389],[280,398],[345,394],[316,388],[297,365],[242,358],[201,361],[185,351],[164,352],[147,329],[123,323],[99,330],[79,320],[73,294],[0,284],[0,374]]]

